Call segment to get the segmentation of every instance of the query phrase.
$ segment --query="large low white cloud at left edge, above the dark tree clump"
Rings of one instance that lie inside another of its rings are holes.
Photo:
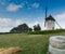
[[[21,19],[13,21],[12,18],[0,17],[0,32],[9,32],[13,27],[23,24]]]

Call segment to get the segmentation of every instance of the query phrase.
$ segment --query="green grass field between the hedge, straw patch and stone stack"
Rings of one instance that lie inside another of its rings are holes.
[[[0,48],[21,46],[21,54],[47,54],[49,38],[57,35],[65,36],[65,32],[51,35],[4,33],[0,35]]]

